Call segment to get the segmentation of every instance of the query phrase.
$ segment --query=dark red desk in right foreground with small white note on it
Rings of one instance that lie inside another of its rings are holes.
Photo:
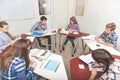
[[[85,55],[90,54],[91,52],[85,53]],[[120,59],[120,56],[112,55],[116,59]],[[84,69],[79,68],[79,64],[84,65]],[[71,71],[71,80],[88,80],[90,76],[90,71],[88,65],[80,60],[78,57],[75,57],[70,60],[70,71]],[[96,78],[99,78],[103,73],[98,72]]]

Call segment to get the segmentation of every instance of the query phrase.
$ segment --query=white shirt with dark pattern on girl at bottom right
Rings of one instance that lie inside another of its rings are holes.
[[[115,60],[109,70],[97,80],[120,80],[120,60]]]

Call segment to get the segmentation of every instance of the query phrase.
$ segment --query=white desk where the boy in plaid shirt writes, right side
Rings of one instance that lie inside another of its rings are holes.
[[[118,50],[116,50],[115,48],[106,46],[104,44],[97,43],[97,41],[95,40],[95,36],[96,35],[91,34],[91,35],[82,37],[83,50],[85,50],[86,46],[88,46],[90,48],[90,50],[102,48],[102,49],[109,51],[113,55],[120,56],[120,52]]]

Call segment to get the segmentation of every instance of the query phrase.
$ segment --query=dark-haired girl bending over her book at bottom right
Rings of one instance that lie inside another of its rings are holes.
[[[94,67],[104,67],[104,74],[97,80],[119,80],[120,79],[120,60],[114,59],[112,55],[104,50],[97,49],[92,52],[95,60]],[[97,75],[96,69],[91,71],[89,80],[95,80]]]

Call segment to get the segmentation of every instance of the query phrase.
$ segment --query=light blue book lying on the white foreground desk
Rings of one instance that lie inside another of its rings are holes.
[[[49,60],[47,65],[45,66],[45,69],[51,70],[53,72],[56,72],[58,67],[59,67],[59,65],[60,65],[59,61]]]

